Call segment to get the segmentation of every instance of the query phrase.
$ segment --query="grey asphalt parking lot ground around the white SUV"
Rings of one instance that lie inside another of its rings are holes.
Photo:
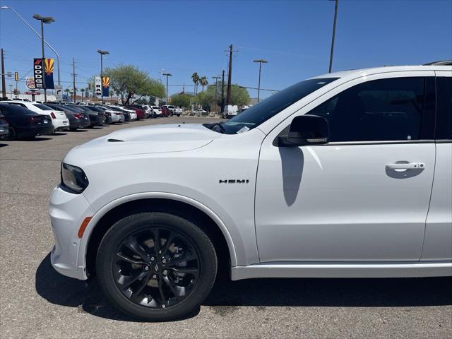
[[[452,338],[452,279],[259,279],[215,284],[197,314],[143,323],[108,304],[95,280],[59,275],[48,197],[74,146],[172,117],[0,141],[1,338]]]

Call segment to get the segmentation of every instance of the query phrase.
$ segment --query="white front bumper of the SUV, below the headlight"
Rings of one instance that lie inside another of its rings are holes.
[[[71,194],[59,186],[52,191],[49,215],[55,246],[50,259],[54,269],[62,275],[80,280],[88,278],[85,267],[78,266],[78,249],[81,244],[78,229],[83,220],[94,213],[83,194]]]

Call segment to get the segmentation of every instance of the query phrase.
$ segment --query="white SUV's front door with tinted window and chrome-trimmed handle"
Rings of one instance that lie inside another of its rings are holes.
[[[374,76],[292,116],[325,117],[326,145],[273,145],[290,121],[268,135],[256,182],[261,262],[420,259],[435,162],[434,77],[422,75]]]

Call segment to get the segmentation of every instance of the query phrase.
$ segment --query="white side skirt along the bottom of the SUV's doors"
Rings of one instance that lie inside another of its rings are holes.
[[[410,278],[452,276],[452,262],[256,263],[231,268],[232,280],[250,278]]]

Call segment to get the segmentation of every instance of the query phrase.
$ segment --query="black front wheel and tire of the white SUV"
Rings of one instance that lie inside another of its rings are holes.
[[[121,311],[168,321],[193,313],[207,297],[217,256],[206,233],[189,220],[138,213],[105,234],[96,271],[105,295]]]

